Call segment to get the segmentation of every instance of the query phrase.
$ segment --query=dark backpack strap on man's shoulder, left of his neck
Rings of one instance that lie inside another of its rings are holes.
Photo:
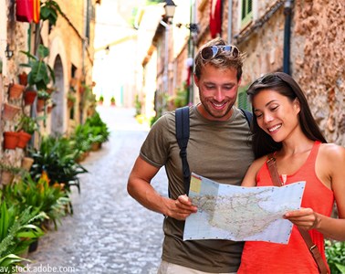
[[[175,111],[176,139],[180,147],[180,157],[183,163],[183,184],[185,194],[189,193],[191,172],[187,162],[187,144],[189,140],[189,107],[176,109]]]

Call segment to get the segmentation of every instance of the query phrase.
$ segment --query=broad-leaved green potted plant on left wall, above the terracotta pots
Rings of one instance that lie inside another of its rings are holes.
[[[20,64],[20,66],[31,68],[27,75],[27,82],[30,87],[36,85],[37,90],[47,90],[50,81],[55,83],[54,70],[44,61],[49,55],[49,49],[42,44],[38,46],[37,56],[32,55],[29,51],[21,51],[24,53],[28,62]]]

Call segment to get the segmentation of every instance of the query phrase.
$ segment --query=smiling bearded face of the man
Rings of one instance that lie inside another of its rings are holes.
[[[194,76],[199,88],[201,105],[199,111],[204,118],[212,121],[226,121],[232,115],[240,80],[235,68],[214,68],[206,65],[200,79]]]

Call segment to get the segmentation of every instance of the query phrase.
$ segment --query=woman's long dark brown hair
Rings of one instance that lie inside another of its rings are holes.
[[[288,99],[291,101],[297,98],[300,104],[298,121],[302,132],[310,140],[327,142],[325,137],[319,130],[319,126],[314,120],[313,115],[311,114],[310,108],[308,106],[308,101],[303,91],[298,86],[298,83],[288,74],[284,72],[268,73],[267,75],[256,79],[246,91],[249,100],[253,102],[254,97],[261,90],[275,90],[281,95],[288,97]],[[255,115],[253,117],[252,132],[252,146],[256,158],[281,149],[282,143],[275,142],[270,135],[268,135],[258,126]]]

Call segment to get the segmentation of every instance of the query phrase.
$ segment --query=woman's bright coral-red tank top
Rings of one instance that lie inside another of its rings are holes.
[[[314,143],[306,163],[295,174],[288,175],[285,184],[306,181],[301,207],[310,207],[319,214],[330,216],[334,203],[333,192],[319,181],[315,173],[319,145],[320,142]],[[273,185],[267,163],[264,163],[258,171],[256,182],[257,186]],[[308,232],[326,262],[323,235],[316,229],[311,229]],[[299,234],[298,228],[294,226],[287,245],[247,241],[242,254],[241,266],[237,273],[307,274],[319,273],[319,271],[303,237]]]

